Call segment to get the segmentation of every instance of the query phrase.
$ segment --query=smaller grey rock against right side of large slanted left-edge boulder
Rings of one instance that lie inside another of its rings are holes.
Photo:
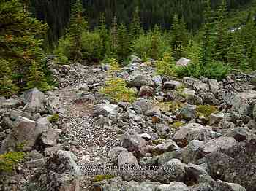
[[[45,147],[56,146],[58,138],[59,130],[56,130],[54,128],[48,128],[42,133],[41,136],[42,144],[44,144]]]

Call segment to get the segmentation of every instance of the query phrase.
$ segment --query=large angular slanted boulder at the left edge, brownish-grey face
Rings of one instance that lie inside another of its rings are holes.
[[[0,153],[15,149],[18,145],[23,144],[25,151],[31,151],[36,144],[37,139],[41,136],[42,131],[46,129],[45,125],[29,120],[25,117],[18,117],[15,127],[1,145]]]

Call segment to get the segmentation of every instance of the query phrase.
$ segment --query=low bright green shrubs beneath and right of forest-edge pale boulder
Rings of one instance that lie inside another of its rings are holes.
[[[202,66],[200,63],[191,63],[187,67],[175,68],[178,77],[207,77],[211,79],[223,79],[230,73],[230,66],[220,61],[212,61]]]

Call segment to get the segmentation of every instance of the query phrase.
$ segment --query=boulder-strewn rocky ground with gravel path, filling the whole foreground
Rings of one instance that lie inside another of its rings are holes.
[[[26,153],[0,190],[256,190],[255,72],[176,79],[134,56],[116,75],[136,100],[116,103],[108,65],[49,67],[55,90],[0,98],[0,154]]]

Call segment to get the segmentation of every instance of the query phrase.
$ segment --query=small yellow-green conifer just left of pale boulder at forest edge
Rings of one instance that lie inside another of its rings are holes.
[[[165,52],[164,57],[161,61],[157,61],[157,74],[173,76],[173,67],[175,66],[175,61],[170,52]]]

